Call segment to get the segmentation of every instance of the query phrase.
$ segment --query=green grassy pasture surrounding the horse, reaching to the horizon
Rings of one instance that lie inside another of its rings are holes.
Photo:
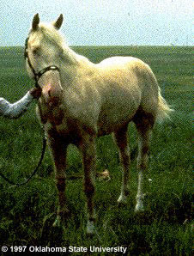
[[[146,176],[146,210],[134,213],[137,189],[136,159],[131,163],[128,204],[117,204],[121,183],[118,151],[111,136],[97,140],[97,171],[108,169],[111,180],[96,180],[97,234],[85,233],[85,196],[82,179],[68,180],[70,218],[63,230],[53,230],[57,209],[52,160],[48,150],[38,174],[26,185],[10,186],[0,178],[0,250],[2,246],[127,247],[128,255],[190,255],[192,202],[192,47],[76,46],[76,52],[94,62],[114,55],[130,55],[148,63],[162,95],[175,109],[170,121],[156,124]],[[19,100],[33,81],[25,70],[22,47],[0,48],[0,97]],[[0,118],[0,172],[15,182],[32,173],[41,152],[41,128],[35,104],[20,119]],[[130,148],[136,148],[136,130],[129,126]],[[136,156],[136,152],[133,151]],[[67,175],[81,175],[82,161],[69,148]],[[10,249],[9,249],[10,253]],[[1,253],[0,253],[1,254]],[[33,254],[33,253],[32,253]],[[5,253],[8,255],[8,253]]]

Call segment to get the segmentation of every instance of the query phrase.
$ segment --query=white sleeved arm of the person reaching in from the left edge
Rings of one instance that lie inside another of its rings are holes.
[[[16,119],[26,112],[28,105],[33,101],[33,96],[29,92],[21,98],[20,101],[16,101],[11,104],[3,98],[0,98],[0,115],[9,119]]]

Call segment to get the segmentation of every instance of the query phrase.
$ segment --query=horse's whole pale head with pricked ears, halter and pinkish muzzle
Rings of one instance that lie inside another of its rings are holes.
[[[39,22],[34,15],[32,28],[26,41],[25,57],[27,73],[39,81],[45,101],[58,105],[62,97],[59,55],[63,52],[62,37],[58,29],[63,23],[63,15],[51,24]]]

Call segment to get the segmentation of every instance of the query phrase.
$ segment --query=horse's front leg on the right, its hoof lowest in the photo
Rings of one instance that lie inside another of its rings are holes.
[[[94,137],[88,134],[82,137],[82,142],[79,145],[82,152],[82,160],[84,166],[84,180],[83,187],[87,197],[88,207],[88,223],[87,233],[94,234],[94,179],[95,179],[95,163],[96,163],[96,149]]]

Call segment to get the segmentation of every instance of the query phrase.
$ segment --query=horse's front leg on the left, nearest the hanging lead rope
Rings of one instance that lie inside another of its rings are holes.
[[[61,219],[68,215],[69,210],[66,204],[66,197],[64,194],[66,186],[66,154],[67,145],[63,143],[60,137],[49,137],[49,147],[51,149],[52,158],[55,167],[55,180],[58,190],[58,213],[53,226],[60,226]]]

